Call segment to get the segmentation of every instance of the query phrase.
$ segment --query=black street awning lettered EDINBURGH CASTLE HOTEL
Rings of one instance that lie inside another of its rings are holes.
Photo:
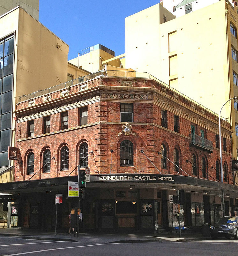
[[[25,180],[0,183],[0,193],[18,194],[43,191],[67,190],[68,181],[77,182],[78,176],[55,177],[41,180]],[[183,175],[161,174],[93,174],[86,188],[160,188],[172,190],[174,187],[187,192],[220,195],[221,190],[229,197],[238,198],[238,186]]]

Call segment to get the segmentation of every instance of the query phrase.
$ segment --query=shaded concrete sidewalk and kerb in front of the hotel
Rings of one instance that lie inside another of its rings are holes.
[[[107,244],[107,243],[148,243],[158,241],[184,241],[184,240],[208,240],[211,238],[203,237],[201,233],[196,232],[182,232],[181,238],[179,234],[168,234],[168,232],[160,233],[101,233],[101,232],[88,232],[79,233],[79,237],[74,237],[73,234],[48,232],[42,229],[29,229],[29,228],[10,228],[0,229],[2,236],[20,236],[24,239],[38,239],[38,240],[53,240],[53,241],[70,241],[90,244]]]

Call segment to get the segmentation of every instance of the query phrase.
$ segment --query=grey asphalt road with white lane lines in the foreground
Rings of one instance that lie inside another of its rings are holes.
[[[0,256],[233,256],[237,253],[238,241],[236,240],[174,242],[157,239],[151,242],[95,244],[0,236]]]

